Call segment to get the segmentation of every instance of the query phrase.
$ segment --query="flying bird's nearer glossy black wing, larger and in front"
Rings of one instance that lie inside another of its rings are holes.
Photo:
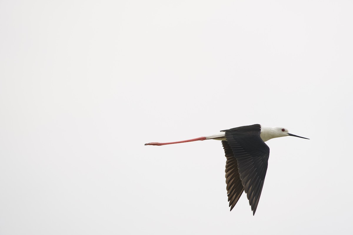
[[[241,126],[225,132],[227,144],[237,159],[239,178],[255,215],[265,180],[270,149],[260,137],[259,124]]]

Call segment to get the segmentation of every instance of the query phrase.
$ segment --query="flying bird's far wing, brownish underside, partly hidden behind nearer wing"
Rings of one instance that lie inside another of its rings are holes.
[[[241,194],[244,192],[244,186],[241,184],[238,162],[234,157],[233,151],[227,141],[222,141],[223,149],[226,153],[226,184],[229,206],[231,210],[237,204]]]

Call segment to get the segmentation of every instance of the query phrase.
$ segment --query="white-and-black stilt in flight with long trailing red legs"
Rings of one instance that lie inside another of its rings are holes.
[[[191,140],[159,143],[152,142],[145,145],[161,146],[202,140],[220,140],[227,158],[226,184],[229,207],[234,208],[241,194],[245,191],[253,215],[264,185],[267,172],[270,148],[266,141],[284,136],[295,136],[283,127],[268,127],[260,124],[239,126],[236,128],[221,130],[210,136],[203,136]]]

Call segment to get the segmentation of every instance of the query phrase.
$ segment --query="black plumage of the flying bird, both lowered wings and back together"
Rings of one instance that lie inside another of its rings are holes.
[[[226,141],[222,141],[222,144],[227,157],[226,183],[229,206],[232,209],[239,200],[239,193],[245,191],[255,215],[266,176],[270,149],[260,137],[261,126],[258,124],[224,131]],[[234,158],[237,160],[238,174],[234,171],[236,166]],[[239,181],[242,188],[237,187]]]

